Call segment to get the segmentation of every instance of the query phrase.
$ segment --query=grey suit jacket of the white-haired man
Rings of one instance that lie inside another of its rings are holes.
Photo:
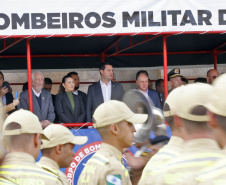
[[[33,100],[33,113],[38,116],[39,121],[48,120],[49,122],[53,123],[55,118],[54,107],[52,102],[51,94],[46,91],[42,90],[41,93],[41,101],[42,101],[42,109],[40,109],[37,98],[32,91],[32,100]],[[20,94],[20,108],[29,110],[29,103],[28,103],[28,91],[24,91]]]

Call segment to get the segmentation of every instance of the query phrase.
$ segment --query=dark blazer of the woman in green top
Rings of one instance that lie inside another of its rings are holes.
[[[74,94],[73,97],[75,102],[74,116],[67,93],[63,92],[56,95],[55,108],[60,123],[83,123],[85,121],[86,114],[82,97]]]

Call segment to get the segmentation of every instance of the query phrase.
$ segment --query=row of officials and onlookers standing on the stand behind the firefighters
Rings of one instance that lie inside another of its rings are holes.
[[[79,90],[78,73],[70,72],[62,78],[57,95],[51,94],[52,80],[50,78],[45,78],[40,71],[32,73],[33,112],[38,116],[44,128],[50,123],[92,122],[92,115],[101,103],[106,100],[122,99],[124,90],[122,85],[115,81],[112,65],[103,63],[99,71],[101,79],[89,86],[87,94]],[[211,69],[207,72],[206,78],[197,78],[195,82],[211,84],[218,75],[216,70]],[[164,80],[157,79],[156,90],[154,90],[147,71],[138,71],[135,79],[137,89],[146,93],[155,107],[163,109]],[[188,80],[181,76],[178,68],[169,72],[168,81],[172,87],[169,93],[181,85],[188,84]],[[14,109],[29,110],[27,82],[23,85],[20,100],[14,100],[10,84],[4,81],[2,72],[0,73],[0,88],[0,103],[5,106],[9,114]]]

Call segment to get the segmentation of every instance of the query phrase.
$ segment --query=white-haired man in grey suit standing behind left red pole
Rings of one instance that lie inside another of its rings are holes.
[[[51,94],[42,89],[44,84],[44,76],[41,72],[32,73],[32,100],[33,113],[38,116],[42,127],[48,126],[54,121],[55,113]],[[28,91],[20,94],[20,107],[28,110]]]

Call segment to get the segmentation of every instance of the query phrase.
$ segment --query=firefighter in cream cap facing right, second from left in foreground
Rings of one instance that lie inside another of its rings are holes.
[[[58,175],[64,185],[70,185],[60,168],[70,166],[74,156],[74,145],[85,144],[87,136],[74,136],[67,127],[54,124],[46,127],[43,133],[49,140],[42,140],[42,157],[36,164]]]

